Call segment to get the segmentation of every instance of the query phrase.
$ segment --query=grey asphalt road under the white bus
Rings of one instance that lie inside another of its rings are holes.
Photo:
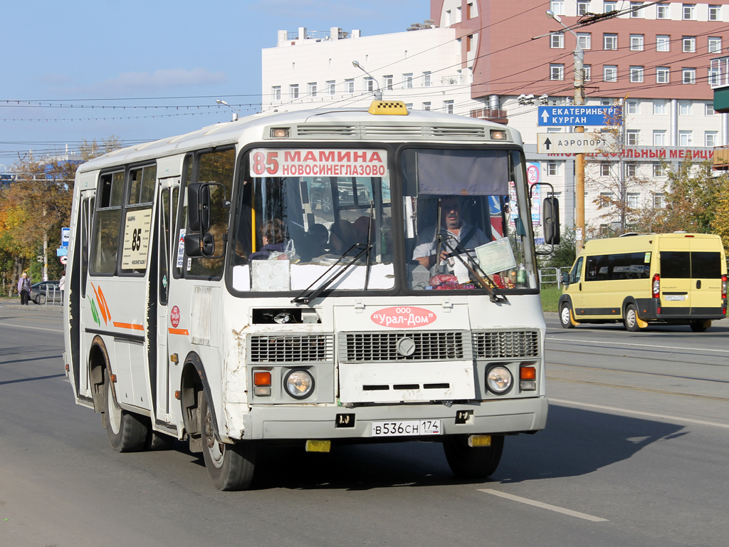
[[[0,546],[726,546],[729,322],[547,325],[547,429],[491,480],[414,442],[273,451],[227,493],[184,443],[114,452],[73,403],[60,309],[0,301]]]

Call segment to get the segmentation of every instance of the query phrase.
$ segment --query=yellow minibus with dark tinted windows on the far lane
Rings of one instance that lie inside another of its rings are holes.
[[[727,313],[727,263],[719,236],[626,233],[585,243],[562,276],[562,327],[622,321],[703,332]]]

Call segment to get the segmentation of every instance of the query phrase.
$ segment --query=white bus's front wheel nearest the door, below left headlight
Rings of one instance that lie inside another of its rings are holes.
[[[213,415],[205,390],[200,391],[200,429],[203,459],[208,475],[219,490],[246,490],[251,486],[255,469],[256,450],[251,441],[227,444],[215,437]]]

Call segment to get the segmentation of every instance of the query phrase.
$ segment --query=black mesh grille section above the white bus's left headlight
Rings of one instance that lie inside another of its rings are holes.
[[[249,359],[258,363],[332,362],[334,337],[330,334],[252,335]]]

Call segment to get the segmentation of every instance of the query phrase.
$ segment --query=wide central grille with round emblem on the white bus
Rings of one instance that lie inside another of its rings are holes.
[[[346,333],[340,337],[344,362],[470,360],[469,337],[459,331]]]

